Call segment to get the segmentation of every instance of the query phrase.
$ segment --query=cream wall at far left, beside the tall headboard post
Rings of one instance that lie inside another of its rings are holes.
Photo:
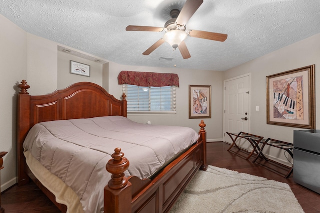
[[[8,152],[0,171],[3,191],[16,183],[16,85],[27,77],[27,34],[2,15],[0,25],[0,151]]]

